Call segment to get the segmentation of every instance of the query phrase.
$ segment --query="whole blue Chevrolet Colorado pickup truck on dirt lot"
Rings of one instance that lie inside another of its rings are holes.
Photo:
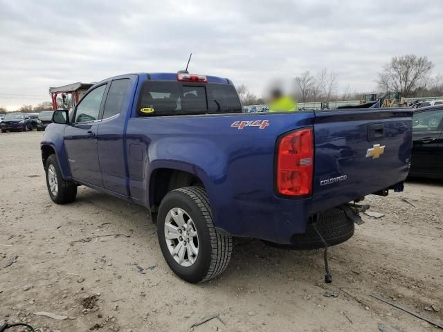
[[[403,190],[412,114],[243,113],[226,78],[121,75],[54,112],[42,160],[55,203],[86,185],[145,206],[168,265],[196,283],[226,269],[233,237],[295,249],[350,239],[356,202]]]

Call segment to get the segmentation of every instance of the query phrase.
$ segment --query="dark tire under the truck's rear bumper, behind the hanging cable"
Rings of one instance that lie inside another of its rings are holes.
[[[320,214],[316,227],[325,239],[327,246],[343,243],[354,235],[354,221],[348,219],[345,212],[339,208]],[[307,224],[305,233],[293,235],[291,241],[292,244],[265,242],[270,246],[282,249],[311,250],[324,248],[323,242],[318,238],[311,222]]]

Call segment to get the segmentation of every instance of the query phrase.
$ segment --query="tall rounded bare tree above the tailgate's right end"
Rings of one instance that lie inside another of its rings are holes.
[[[377,83],[382,91],[399,91],[404,97],[408,97],[411,91],[424,83],[432,68],[433,63],[428,57],[417,57],[413,54],[392,57],[390,62],[383,66]]]

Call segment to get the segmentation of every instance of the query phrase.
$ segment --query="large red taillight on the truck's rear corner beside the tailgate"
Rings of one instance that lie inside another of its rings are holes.
[[[292,131],[280,138],[276,174],[279,194],[289,196],[311,194],[313,169],[312,129]]]

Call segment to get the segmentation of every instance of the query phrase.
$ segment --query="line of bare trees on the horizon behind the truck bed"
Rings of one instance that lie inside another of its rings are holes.
[[[443,75],[431,75],[433,63],[428,57],[403,55],[392,57],[377,75],[377,86],[373,91],[355,91],[347,85],[338,91],[338,74],[328,68],[318,73],[304,71],[293,78],[291,95],[298,102],[332,102],[338,100],[360,100],[365,93],[382,95],[401,92],[405,98],[423,98],[443,95]],[[263,104],[262,97],[249,91],[244,84],[236,86],[244,105]]]

